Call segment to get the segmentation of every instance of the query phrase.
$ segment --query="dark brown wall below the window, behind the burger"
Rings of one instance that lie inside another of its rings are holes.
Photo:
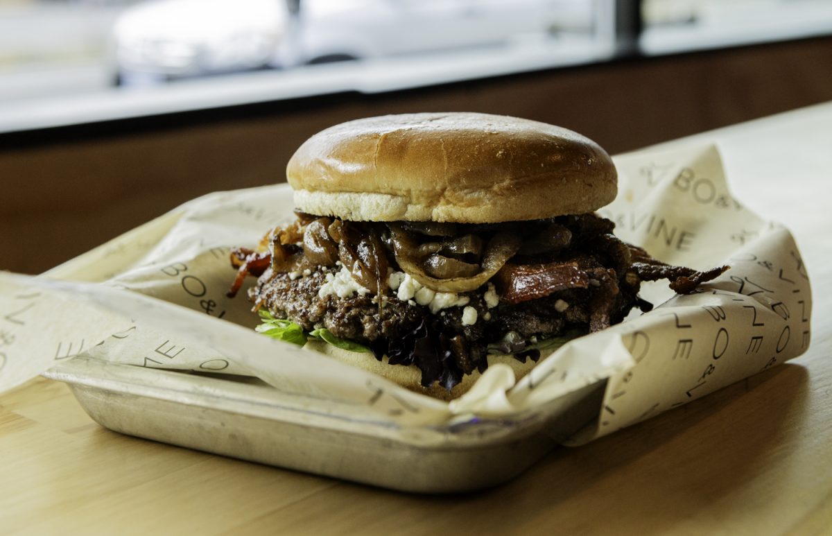
[[[830,99],[832,38],[818,38],[6,135],[0,269],[38,273],[193,197],[282,181],[302,141],[358,117],[508,114],[615,154]]]

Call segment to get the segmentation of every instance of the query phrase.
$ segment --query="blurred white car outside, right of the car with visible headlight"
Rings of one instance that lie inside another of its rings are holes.
[[[592,27],[593,0],[300,0],[275,62],[480,47]]]

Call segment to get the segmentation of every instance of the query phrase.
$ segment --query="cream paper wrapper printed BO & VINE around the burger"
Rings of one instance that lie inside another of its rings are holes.
[[[448,404],[256,334],[245,290],[225,297],[235,275],[228,252],[291,217],[291,191],[280,185],[201,197],[40,277],[0,274],[0,392],[84,354],[255,375],[331,401],[356,421],[413,429],[545,418],[552,400],[606,379],[597,422],[569,441],[581,444],[806,350],[810,285],[795,241],[731,196],[715,147],[616,164],[619,196],[600,213],[618,236],[671,264],[731,268],[692,295],[645,284],[641,295],[661,304],[655,310],[572,340],[516,384],[508,367],[493,366]]]

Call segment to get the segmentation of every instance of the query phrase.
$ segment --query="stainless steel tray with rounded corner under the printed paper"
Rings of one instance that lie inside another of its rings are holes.
[[[329,400],[254,379],[207,377],[77,357],[45,374],[66,382],[102,426],[191,449],[418,493],[502,484],[597,417],[604,382],[517,420],[403,429],[360,422]]]

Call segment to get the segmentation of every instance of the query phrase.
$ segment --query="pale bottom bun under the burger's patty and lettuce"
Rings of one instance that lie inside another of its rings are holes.
[[[458,385],[454,385],[452,390],[447,390],[441,385],[433,384],[430,387],[423,387],[421,384],[422,371],[418,370],[416,365],[389,365],[387,356],[379,361],[375,359],[374,355],[366,352],[351,352],[349,350],[342,350],[336,346],[328,345],[325,342],[318,340],[310,340],[306,343],[305,348],[315,350],[321,354],[339,360],[342,363],[358,367],[359,369],[368,370],[374,374],[382,376],[390,381],[393,381],[402,387],[412,390],[422,395],[432,396],[439,400],[453,400],[464,395],[471,389],[471,386],[479,380],[480,373],[474,370],[472,374],[463,375],[462,381]],[[514,371],[514,377],[520,380],[527,375],[532,368],[540,363],[547,355],[552,352],[542,352],[541,357],[537,362],[527,359],[525,363],[517,360],[513,355],[488,355],[488,365],[495,365],[503,363],[511,367]]]

